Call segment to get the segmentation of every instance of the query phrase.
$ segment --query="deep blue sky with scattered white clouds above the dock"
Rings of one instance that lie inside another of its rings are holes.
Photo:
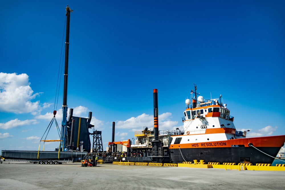
[[[285,134],[285,1],[3,0],[1,150],[37,150],[52,119],[66,5],[68,108],[92,111],[104,150],[113,121],[115,141],[153,127],[153,89],[160,130],[182,129],[194,83],[205,99],[222,94],[248,137]],[[58,138],[54,125],[47,139]]]

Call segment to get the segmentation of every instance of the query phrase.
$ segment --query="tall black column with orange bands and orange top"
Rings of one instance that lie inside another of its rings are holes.
[[[153,89],[154,155],[158,154],[158,100],[157,89]]]

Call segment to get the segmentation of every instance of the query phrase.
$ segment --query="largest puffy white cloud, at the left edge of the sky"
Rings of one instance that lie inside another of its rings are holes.
[[[0,111],[8,113],[40,113],[40,101],[31,102],[40,93],[34,93],[26,73],[0,73]],[[34,93],[34,94],[33,94]],[[49,106],[45,104],[44,107]]]

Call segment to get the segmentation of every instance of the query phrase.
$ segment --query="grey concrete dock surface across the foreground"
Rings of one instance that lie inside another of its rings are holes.
[[[0,189],[284,189],[284,171],[121,166],[81,163],[0,164]]]

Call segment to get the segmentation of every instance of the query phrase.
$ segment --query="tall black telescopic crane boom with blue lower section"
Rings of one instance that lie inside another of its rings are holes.
[[[62,103],[62,128],[61,128],[61,149],[65,148],[67,126],[67,81],[68,81],[68,54],[69,54],[69,23],[70,23],[70,12],[73,12],[70,7],[66,7],[66,40],[65,40],[65,66],[64,66],[64,87],[63,87],[63,103]]]

